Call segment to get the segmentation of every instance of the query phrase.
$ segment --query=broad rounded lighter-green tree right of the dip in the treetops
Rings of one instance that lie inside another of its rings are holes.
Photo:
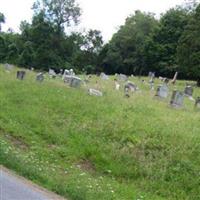
[[[126,19],[125,25],[113,35],[103,49],[101,57],[107,73],[141,74],[148,63],[145,59],[145,45],[157,27],[158,22],[151,13],[136,11]]]

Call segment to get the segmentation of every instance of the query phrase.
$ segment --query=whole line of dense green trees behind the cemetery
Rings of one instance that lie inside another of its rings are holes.
[[[104,44],[99,30],[70,32],[79,23],[75,0],[37,0],[31,23],[20,33],[1,31],[0,62],[48,70],[73,68],[77,73],[157,75],[200,83],[200,5],[196,2],[168,10],[160,19],[135,11]]]

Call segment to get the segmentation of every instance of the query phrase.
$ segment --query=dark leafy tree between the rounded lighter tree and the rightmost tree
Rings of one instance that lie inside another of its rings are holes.
[[[161,17],[158,29],[147,44],[147,55],[150,53],[153,58],[150,67],[163,75],[169,76],[177,71],[177,45],[188,18],[185,9],[177,7],[168,10]]]

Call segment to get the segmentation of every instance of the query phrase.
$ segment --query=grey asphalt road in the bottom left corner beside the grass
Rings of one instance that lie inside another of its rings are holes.
[[[25,179],[0,166],[0,200],[60,200]]]

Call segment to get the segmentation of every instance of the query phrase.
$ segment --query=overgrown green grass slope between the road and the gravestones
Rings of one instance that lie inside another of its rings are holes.
[[[92,78],[104,92],[95,97],[61,79],[15,76],[0,66],[0,164],[72,200],[200,199],[194,102],[172,109],[137,78],[142,91],[126,99],[114,77]]]

